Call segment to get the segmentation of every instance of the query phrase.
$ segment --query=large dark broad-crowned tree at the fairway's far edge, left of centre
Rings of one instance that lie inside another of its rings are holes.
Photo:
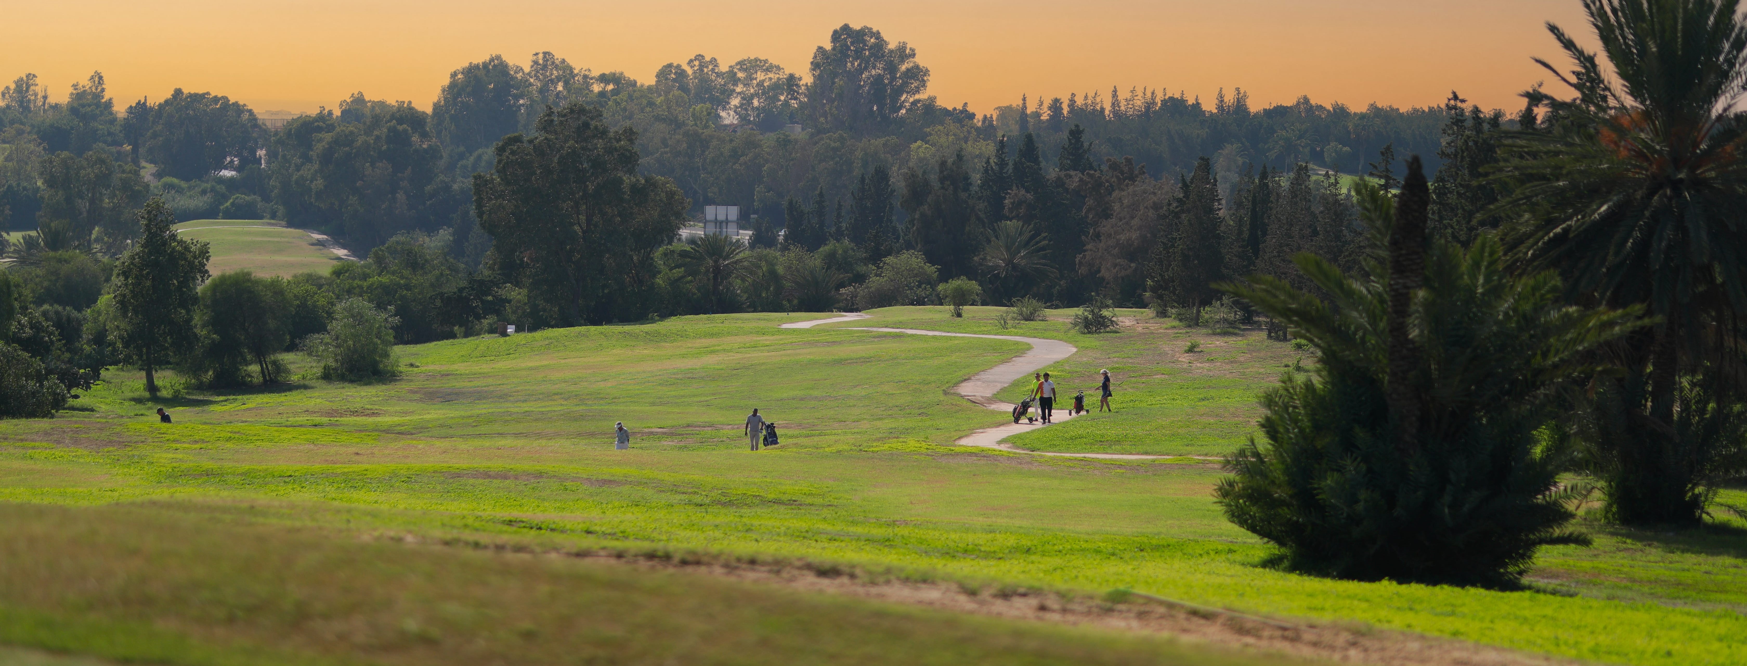
[[[538,133],[496,147],[491,175],[473,175],[473,212],[493,236],[496,269],[528,288],[557,325],[641,320],[653,252],[674,238],[690,203],[673,180],[638,175],[636,129],[610,129],[601,110],[570,103],[540,115]],[[641,309],[641,311],[638,311]]]

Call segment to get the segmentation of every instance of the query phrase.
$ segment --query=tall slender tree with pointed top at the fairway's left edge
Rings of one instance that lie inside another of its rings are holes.
[[[121,346],[145,371],[152,397],[157,397],[157,369],[199,339],[194,309],[197,288],[210,276],[206,241],[180,238],[173,224],[164,199],[147,201],[140,210],[140,241],[115,262],[110,285]]]

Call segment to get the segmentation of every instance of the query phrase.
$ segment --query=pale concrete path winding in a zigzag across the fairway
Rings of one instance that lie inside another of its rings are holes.
[[[819,325],[819,323],[856,322],[856,320],[865,320],[865,318],[870,318],[870,315],[847,313],[844,316],[833,316],[833,318],[828,318],[828,320],[811,320],[811,322],[783,323],[781,329],[812,329],[814,325]],[[1010,339],[1010,341],[1015,341],[1015,343],[1031,344],[1031,351],[1025,351],[1025,353],[1022,353],[1019,357],[1008,358],[1005,364],[991,367],[991,369],[982,371],[982,372],[977,372],[970,379],[964,379],[957,386],[952,386],[952,392],[963,395],[966,400],[971,400],[971,402],[980,404],[984,407],[996,409],[996,411],[1008,413],[1008,414],[1013,413],[1013,404],[1012,402],[996,400],[994,399],[996,392],[999,392],[1001,388],[1006,388],[1006,385],[1012,385],[1013,381],[1017,381],[1020,378],[1029,378],[1032,372],[1041,371],[1041,369],[1048,367],[1050,364],[1055,364],[1055,362],[1059,362],[1062,358],[1073,357],[1074,351],[1080,351],[1073,344],[1062,343],[1059,339],[1043,339],[1043,337],[954,334],[954,332],[942,332],[942,330],[880,329],[880,327],[851,327],[851,329],[846,329],[846,330],[901,332],[901,334],[910,334],[910,336],[989,337],[989,339]],[[1071,393],[1062,395],[1060,392],[1057,392],[1057,399],[1064,406],[1053,409],[1053,421],[1060,423],[1060,421],[1066,421],[1066,420],[1073,418],[1073,414],[1067,413],[1067,407],[1071,407],[1074,404],[1073,395]],[[1032,406],[1031,416],[1038,416],[1036,406]],[[959,437],[954,444],[959,444],[959,446],[982,446],[982,447],[987,447],[987,449],[1001,449],[1001,451],[1013,451],[1013,453],[1032,453],[1032,454],[1039,454],[1039,456],[1108,458],[1108,460],[1174,458],[1174,456],[1146,456],[1146,454],[1130,454],[1130,453],[1048,453],[1048,451],[1025,451],[1025,449],[1020,449],[1017,446],[1001,442],[1003,439],[1013,437],[1013,435],[1022,434],[1022,432],[1038,430],[1038,428],[1045,428],[1045,425],[1043,423],[1025,423],[1025,421],[1006,423],[1006,425],[998,425],[994,428],[984,428],[984,430],[971,432],[970,435]]]

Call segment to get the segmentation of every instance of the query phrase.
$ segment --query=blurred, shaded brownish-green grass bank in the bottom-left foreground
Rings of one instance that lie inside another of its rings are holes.
[[[122,661],[1288,663],[702,573],[339,540],[218,510],[0,505],[0,640]]]

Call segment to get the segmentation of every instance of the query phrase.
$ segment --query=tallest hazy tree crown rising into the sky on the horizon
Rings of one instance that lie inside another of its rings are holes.
[[[807,107],[814,122],[854,135],[891,128],[928,89],[928,68],[905,42],[847,23],[812,52]]]

